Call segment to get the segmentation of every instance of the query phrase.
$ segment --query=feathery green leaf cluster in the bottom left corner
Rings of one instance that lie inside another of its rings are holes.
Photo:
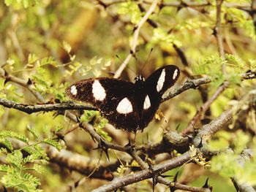
[[[0,154],[4,164],[0,165],[0,172],[4,172],[0,182],[6,188],[18,191],[42,191],[39,189],[40,180],[32,173],[44,172],[44,165],[48,164],[48,155],[42,144],[51,145],[61,150],[62,146],[53,137],[40,138],[35,128],[28,126],[27,130],[34,136],[35,142],[14,131],[0,131]],[[59,131],[56,130],[56,131]]]

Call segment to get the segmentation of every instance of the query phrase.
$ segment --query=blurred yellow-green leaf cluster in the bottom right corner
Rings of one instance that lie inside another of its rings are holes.
[[[210,149],[220,151],[219,155],[211,159],[211,171],[222,177],[234,177],[238,183],[256,185],[256,155],[243,156],[246,147],[255,148],[255,139],[239,130],[232,134],[219,131],[216,139],[210,142]],[[229,147],[232,146],[232,150]],[[250,159],[249,159],[250,158]],[[246,162],[245,162],[246,161]]]

